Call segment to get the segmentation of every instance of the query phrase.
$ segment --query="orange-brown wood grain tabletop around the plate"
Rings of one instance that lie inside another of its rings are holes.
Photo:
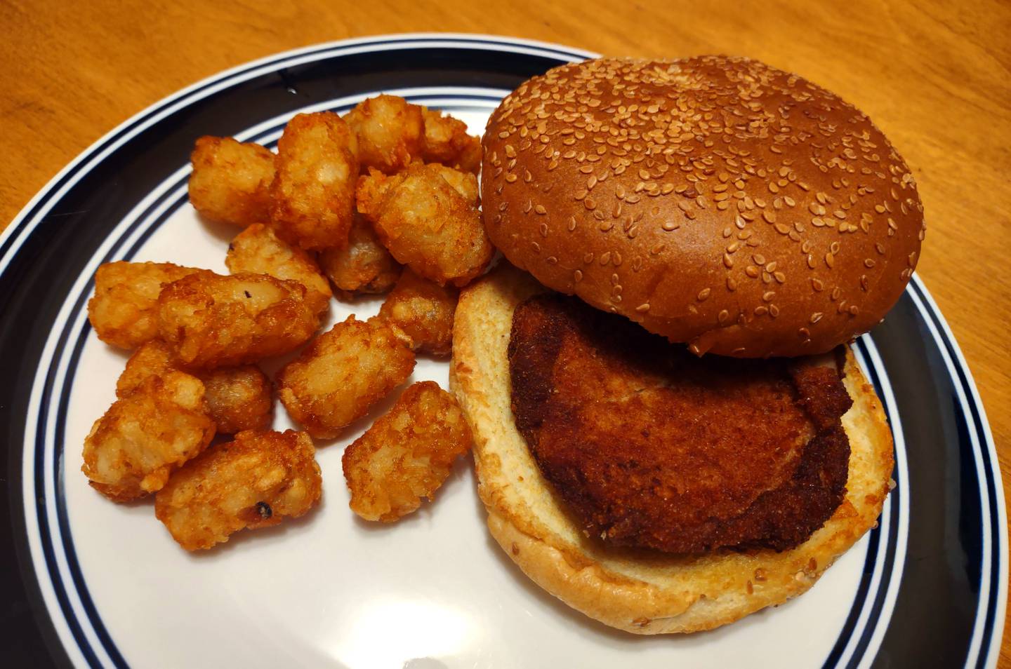
[[[613,56],[739,54],[797,72],[867,112],[911,166],[927,219],[917,271],[969,360],[1011,481],[1011,3],[0,0],[0,228],[148,105],[319,41],[485,32]]]

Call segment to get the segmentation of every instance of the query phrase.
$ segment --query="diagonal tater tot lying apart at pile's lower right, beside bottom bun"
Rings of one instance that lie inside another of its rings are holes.
[[[456,400],[433,381],[416,383],[344,452],[351,510],[393,522],[433,499],[472,439]]]

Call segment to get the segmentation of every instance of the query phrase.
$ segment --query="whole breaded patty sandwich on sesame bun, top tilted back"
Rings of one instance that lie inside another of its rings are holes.
[[[888,139],[755,61],[605,59],[502,101],[481,187],[509,263],[461,294],[451,384],[507,554],[638,634],[810,588],[890,486],[846,346],[923,238]]]

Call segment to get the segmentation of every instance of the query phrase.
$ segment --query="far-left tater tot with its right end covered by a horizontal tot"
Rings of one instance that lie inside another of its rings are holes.
[[[98,339],[135,349],[158,336],[158,295],[162,287],[198,272],[172,263],[105,263],[95,272],[88,320]]]

